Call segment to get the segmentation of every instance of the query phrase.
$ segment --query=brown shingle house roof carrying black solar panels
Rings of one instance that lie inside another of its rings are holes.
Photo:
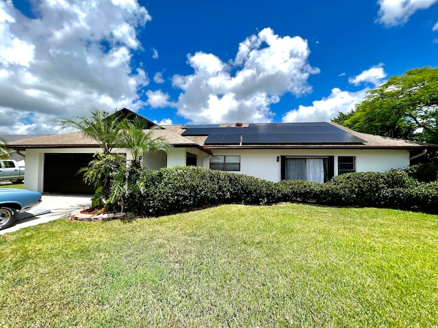
[[[400,148],[415,150],[438,145],[359,133],[334,122],[237,123],[204,125],[162,125],[123,108],[114,115],[140,117],[153,135],[174,147],[210,149],[315,149],[315,148]],[[98,148],[99,144],[80,132],[57,135],[0,135],[9,148]]]

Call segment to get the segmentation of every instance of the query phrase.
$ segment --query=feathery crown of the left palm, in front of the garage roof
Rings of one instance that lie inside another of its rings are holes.
[[[122,122],[123,119],[118,115],[93,109],[91,118],[78,116],[70,120],[58,120],[57,125],[60,126],[61,130],[73,128],[80,131],[83,135],[97,141],[104,154],[110,154],[112,149],[117,146]]]

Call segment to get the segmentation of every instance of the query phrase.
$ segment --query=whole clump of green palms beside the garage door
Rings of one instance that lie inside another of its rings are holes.
[[[140,118],[126,118],[116,113],[93,109],[90,118],[79,116],[59,120],[62,129],[73,128],[99,143],[103,152],[96,152],[94,159],[80,172],[84,180],[94,185],[93,206],[114,209],[121,204],[127,188],[140,176],[143,156],[149,152],[168,152],[168,142],[155,137],[154,130],[146,131],[146,122]],[[114,148],[125,149],[131,155],[127,163],[125,154],[113,154]]]

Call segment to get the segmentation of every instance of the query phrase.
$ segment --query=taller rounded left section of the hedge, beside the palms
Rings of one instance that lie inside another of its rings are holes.
[[[279,191],[253,176],[181,166],[143,172],[126,199],[128,210],[157,216],[218,204],[272,204]]]

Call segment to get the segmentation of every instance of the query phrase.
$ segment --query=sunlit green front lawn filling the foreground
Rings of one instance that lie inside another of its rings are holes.
[[[0,236],[1,327],[437,327],[438,216],[220,206]]]

